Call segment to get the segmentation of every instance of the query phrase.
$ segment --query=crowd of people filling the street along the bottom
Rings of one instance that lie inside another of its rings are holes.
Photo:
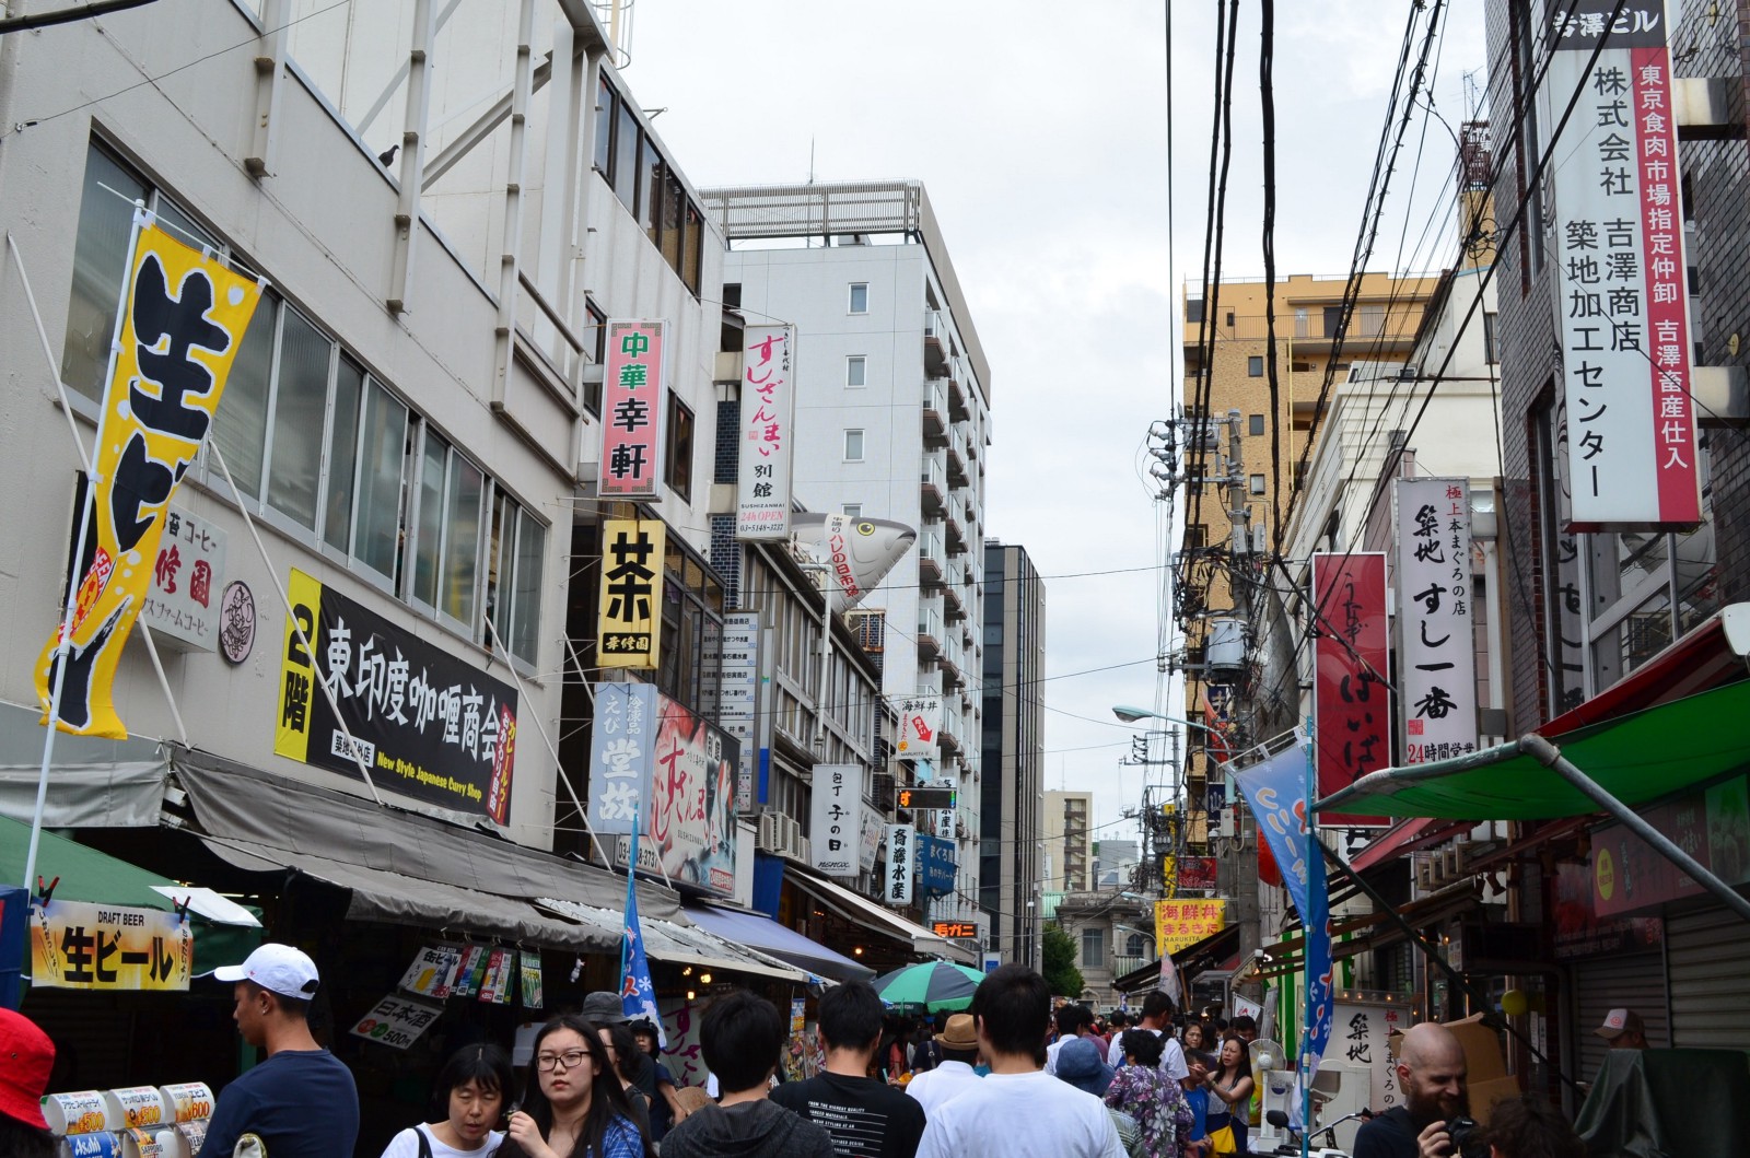
[[[215,976],[233,985],[238,1032],[266,1060],[220,1092],[201,1153],[352,1155],[352,1074],[308,1025],[315,964],[262,945]],[[656,1027],[621,1009],[618,994],[598,992],[546,1022],[523,1081],[500,1046],[460,1048],[438,1074],[436,1120],[397,1134],[383,1158],[1225,1158],[1250,1153],[1256,1121],[1251,1018],[1208,1011],[1174,1032],[1162,992],[1134,1023],[1078,1004],[1054,1013],[1045,978],[1024,966],[987,974],[966,1013],[928,1030],[894,1023],[868,983],[826,990],[824,1065],[794,1081],[782,1079],[779,1009],[742,990],[719,995],[700,1023],[710,1093],[677,1088]],[[0,1158],[54,1153],[37,1102],[52,1057],[40,1029],[0,1009]],[[1362,1127],[1356,1158],[1584,1155],[1536,1097],[1474,1128],[1465,1055],[1440,1025],[1404,1036],[1396,1074],[1405,1102]]]

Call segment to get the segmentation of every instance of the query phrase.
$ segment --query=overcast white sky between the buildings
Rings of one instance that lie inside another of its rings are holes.
[[[639,0],[630,87],[695,185],[919,178],[990,360],[987,534],[1046,579],[1046,787],[1096,792],[1096,836],[1141,798],[1111,705],[1176,714],[1157,677],[1166,509],[1144,432],[1178,397],[1178,290],[1199,276],[1214,0],[1172,5],[1174,219],[1167,65],[1155,0]],[[1278,7],[1278,273],[1349,268],[1410,0]],[[1262,275],[1258,3],[1241,3],[1227,276]],[[1465,119],[1480,87],[1480,0],[1454,0],[1433,103]],[[1402,173],[1414,163],[1412,121]],[[1452,161],[1433,124],[1418,199],[1400,177],[1370,269],[1423,233]],[[1110,668],[1076,675],[1092,668]],[[1110,827],[1108,827],[1110,826]]]

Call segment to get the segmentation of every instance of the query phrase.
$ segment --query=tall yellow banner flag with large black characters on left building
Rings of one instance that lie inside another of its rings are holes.
[[[126,297],[110,355],[108,388],[80,513],[79,576],[65,679],[54,726],[82,736],[126,740],[110,686],[116,665],[152,588],[170,497],[212,430],[219,397],[261,283],[238,276],[175,240],[144,210],[135,213]],[[35,666],[42,722],[49,722],[61,624]]]

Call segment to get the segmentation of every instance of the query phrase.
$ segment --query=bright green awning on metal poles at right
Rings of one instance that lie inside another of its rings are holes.
[[[1561,754],[1640,808],[1750,764],[1750,680],[1661,703],[1563,736]],[[1318,812],[1451,820],[1584,817],[1600,805],[1519,742],[1432,764],[1372,771]]]

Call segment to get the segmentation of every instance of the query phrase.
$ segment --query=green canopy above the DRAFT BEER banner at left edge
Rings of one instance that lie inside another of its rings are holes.
[[[0,880],[7,885],[23,883],[28,855],[30,826],[0,817]],[[37,841],[37,876],[44,882],[61,878],[54,887],[56,901],[124,904],[166,913],[177,908],[170,897],[152,889],[154,885],[173,889],[177,882],[49,831]],[[35,883],[32,882],[32,892]],[[194,922],[196,973],[242,964],[250,950],[261,945],[259,927],[224,925],[196,913],[191,913],[189,920]]]

